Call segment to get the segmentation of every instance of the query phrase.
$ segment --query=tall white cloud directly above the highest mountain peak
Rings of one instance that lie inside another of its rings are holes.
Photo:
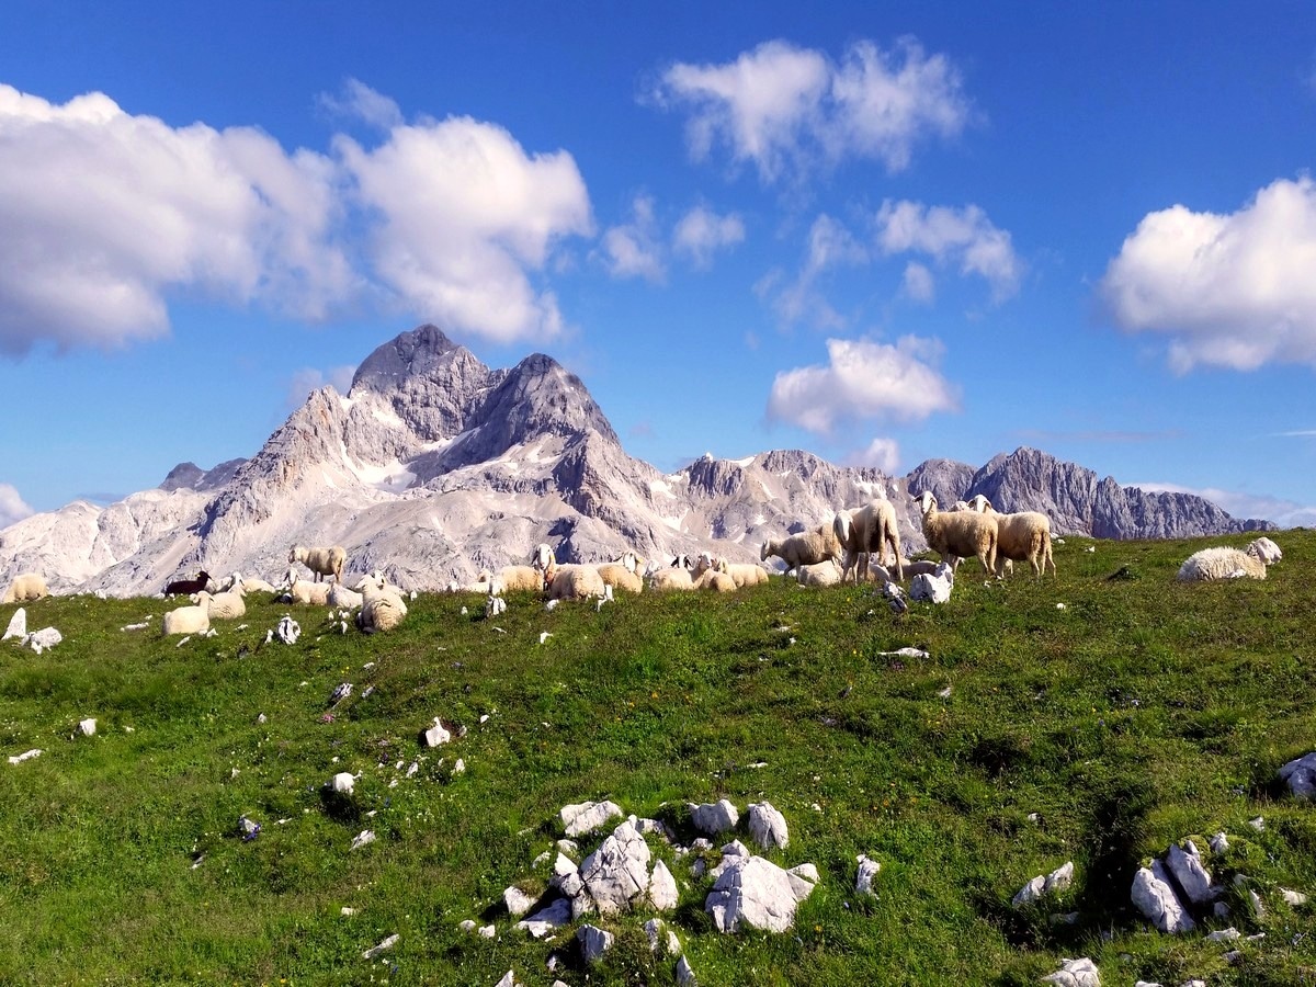
[[[371,259],[408,311],[496,342],[562,329],[551,292],[528,268],[594,224],[566,151],[528,155],[503,128],[470,117],[397,126],[372,150],[334,141],[376,218]]]

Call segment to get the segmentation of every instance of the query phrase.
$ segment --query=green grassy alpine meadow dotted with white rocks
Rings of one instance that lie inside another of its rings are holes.
[[[147,615],[158,629],[172,603],[29,604],[29,629],[64,641],[0,647],[0,754],[45,751],[0,762],[0,983],[492,984],[508,969],[522,984],[675,983],[647,915],[595,917],[617,946],[587,971],[572,929],[516,932],[501,892],[545,888],[532,861],[567,803],[612,799],[688,836],[686,803],[719,797],[776,805],[791,844],[766,855],[821,882],[792,934],[721,936],[711,880],[653,842],[705,987],[1024,984],[1079,955],[1103,984],[1316,982],[1316,907],[1278,894],[1316,899],[1316,805],[1275,782],[1316,749],[1316,533],[1277,541],[1265,582],[1179,586],[1208,542],[1070,538],[1057,579],[984,586],[969,562],[950,603],[901,617],[871,588],[774,580],[601,612],[512,597],[494,620],[478,597],[421,596],[375,637],[301,609],[292,646],[262,644],[288,608],[255,603],[246,630],[179,647],[120,629]],[[928,658],[882,654],[904,646]],[[354,692],[325,721],[340,682]],[[88,716],[96,736],[75,738]],[[434,716],[466,736],[422,750]],[[361,772],[354,799],[326,800],[343,770]],[[243,813],[262,825],[247,842]],[[376,842],[349,850],[365,828]],[[1230,849],[1208,865],[1246,875],[1266,911],[1230,886],[1232,919],[1208,929],[1265,938],[1152,932],[1129,904],[1140,863],[1221,829]],[[861,853],[882,863],[876,898],[854,894]],[[1011,908],[1069,859],[1070,891]],[[362,958],[390,933],[390,953]]]

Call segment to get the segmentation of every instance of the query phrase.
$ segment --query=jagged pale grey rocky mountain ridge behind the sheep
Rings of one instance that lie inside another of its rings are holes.
[[[42,571],[61,592],[157,592],[179,572],[276,579],[288,546],[341,544],[349,571],[382,569],[437,588],[521,562],[547,541],[563,558],[628,547],[757,561],[767,537],[875,495],[923,547],[911,492],[944,504],[986,494],[1040,509],[1059,533],[1171,537],[1269,528],[1182,494],[1148,495],[1037,450],[979,470],[928,461],[905,478],[800,450],[703,457],[662,474],[628,455],[575,375],[533,354],[491,370],[432,325],[376,347],[346,396],[313,392],[250,459],[175,467],[161,488],[107,508],[75,501],[0,532],[0,576]],[[0,582],[3,582],[0,580]]]

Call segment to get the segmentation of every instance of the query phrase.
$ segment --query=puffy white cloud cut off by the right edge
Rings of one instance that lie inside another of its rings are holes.
[[[1238,212],[1149,213],[1100,293],[1128,333],[1159,333],[1177,372],[1316,363],[1316,183],[1278,179]]]

